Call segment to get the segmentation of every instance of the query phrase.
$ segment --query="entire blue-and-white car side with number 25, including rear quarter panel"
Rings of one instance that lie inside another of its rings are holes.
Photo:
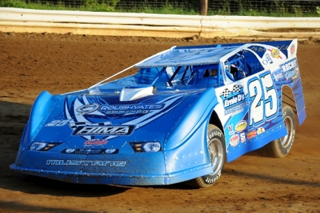
[[[282,51],[268,46],[257,48],[255,55],[264,70],[216,89],[220,103],[216,111],[225,131],[227,161],[287,135],[282,118],[283,86],[293,90],[299,123],[305,120],[296,45],[292,40],[282,46]]]

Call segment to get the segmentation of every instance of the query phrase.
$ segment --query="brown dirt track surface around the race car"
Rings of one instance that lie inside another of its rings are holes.
[[[42,90],[88,88],[174,45],[233,41],[0,33],[0,212],[320,212],[320,45],[312,39],[298,45],[307,119],[285,158],[250,153],[207,189],[68,184],[9,169]]]

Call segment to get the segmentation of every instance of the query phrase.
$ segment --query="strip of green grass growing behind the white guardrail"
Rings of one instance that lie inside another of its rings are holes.
[[[147,1],[121,1],[120,0],[83,0],[81,5],[67,5],[63,1],[57,3],[43,3],[41,1],[29,0],[1,0],[0,7],[29,8],[35,10],[80,10],[93,12],[118,12],[118,13],[153,13],[153,14],[178,14],[178,15],[200,15],[198,8],[194,5],[159,3],[155,6]],[[218,2],[218,1],[217,1]],[[298,4],[274,3],[265,8],[261,5],[253,5],[251,1],[237,1],[237,6],[230,5],[230,1],[220,1],[219,4],[211,4],[207,15],[243,15],[243,16],[265,16],[265,17],[320,17],[320,7],[312,9],[298,6]]]

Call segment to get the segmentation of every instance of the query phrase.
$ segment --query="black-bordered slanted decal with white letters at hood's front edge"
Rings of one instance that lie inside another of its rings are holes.
[[[134,125],[80,126],[73,135],[129,135]]]

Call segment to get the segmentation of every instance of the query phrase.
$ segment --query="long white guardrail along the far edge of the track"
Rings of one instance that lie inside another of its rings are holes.
[[[319,17],[248,17],[101,13],[0,8],[0,31],[100,36],[320,38]],[[289,29],[289,30],[288,30]],[[290,30],[295,31],[290,31]],[[296,30],[303,31],[296,31]]]

